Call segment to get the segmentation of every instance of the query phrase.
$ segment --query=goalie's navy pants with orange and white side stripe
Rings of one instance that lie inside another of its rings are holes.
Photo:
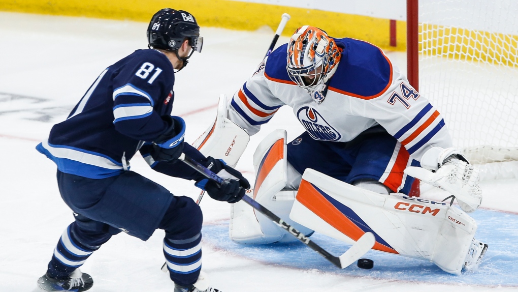
[[[287,144],[287,160],[299,172],[307,168],[352,184],[377,180],[393,192],[408,194],[413,177],[403,170],[419,166],[396,138],[380,127],[371,128],[350,142],[314,140],[304,132]]]

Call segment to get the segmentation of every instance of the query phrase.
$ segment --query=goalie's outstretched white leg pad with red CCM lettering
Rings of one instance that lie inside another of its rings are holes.
[[[330,237],[353,243],[375,235],[373,249],[433,261],[459,274],[477,224],[465,212],[442,202],[357,188],[308,169],[290,218]]]

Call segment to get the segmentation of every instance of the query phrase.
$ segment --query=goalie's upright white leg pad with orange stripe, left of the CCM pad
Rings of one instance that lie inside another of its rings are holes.
[[[306,235],[312,233],[312,230],[289,219],[296,190],[286,190],[286,184],[290,180],[290,185],[298,185],[301,176],[293,168],[289,168],[286,162],[286,131],[276,130],[268,135],[257,146],[253,160],[256,170],[252,194],[254,200],[300,232]],[[289,172],[288,169],[290,169]],[[297,177],[299,177],[298,182]],[[231,207],[229,235],[233,241],[243,244],[297,240],[271,219],[255,212],[243,201],[237,202]]]

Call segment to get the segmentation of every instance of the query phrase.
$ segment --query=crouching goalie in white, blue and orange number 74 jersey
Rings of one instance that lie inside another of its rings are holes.
[[[231,100],[220,99],[217,121],[195,146],[233,165],[248,135],[284,105],[306,131],[288,143],[277,130],[258,145],[258,203],[306,236],[353,243],[372,232],[381,252],[429,260],[452,274],[478,267],[487,245],[474,239],[477,223],[467,213],[482,202],[479,171],[381,49],[299,27]],[[243,142],[227,148],[237,137]],[[414,178],[452,200],[409,197]],[[232,205],[229,235],[241,244],[296,240],[243,202]]]

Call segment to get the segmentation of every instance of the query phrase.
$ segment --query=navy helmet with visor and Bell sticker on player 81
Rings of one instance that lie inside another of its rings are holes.
[[[199,36],[198,23],[191,13],[184,10],[164,8],[156,12],[149,23],[147,36],[149,47],[175,52],[176,57],[183,61],[183,67],[194,51],[202,52],[203,37]],[[181,58],[178,49],[186,39],[192,50],[187,57]]]

